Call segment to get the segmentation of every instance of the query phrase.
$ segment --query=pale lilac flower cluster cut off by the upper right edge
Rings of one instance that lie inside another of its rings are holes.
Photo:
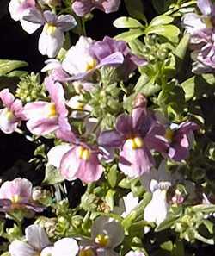
[[[191,48],[194,59],[193,72],[213,72],[214,63],[214,4],[210,0],[198,0],[201,14],[188,13],[183,17],[183,25],[191,34]]]

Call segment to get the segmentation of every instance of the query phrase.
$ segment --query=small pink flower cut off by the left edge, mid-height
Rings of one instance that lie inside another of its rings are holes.
[[[22,102],[15,99],[9,89],[0,91],[0,98],[6,108],[0,110],[0,129],[5,134],[11,134],[17,128],[19,122],[25,119],[22,113]]]

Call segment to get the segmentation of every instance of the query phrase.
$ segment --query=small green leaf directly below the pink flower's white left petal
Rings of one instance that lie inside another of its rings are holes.
[[[61,176],[59,170],[52,166],[46,165],[46,175],[44,178],[44,184],[58,184],[64,181],[64,178]]]

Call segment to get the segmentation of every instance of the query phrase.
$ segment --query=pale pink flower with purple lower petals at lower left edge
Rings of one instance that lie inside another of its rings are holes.
[[[6,181],[0,188],[0,211],[8,212],[13,209],[31,209],[43,211],[43,208],[32,199],[32,184],[26,178],[15,178]]]

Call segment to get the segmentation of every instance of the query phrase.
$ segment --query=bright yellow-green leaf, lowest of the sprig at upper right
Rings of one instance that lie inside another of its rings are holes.
[[[180,34],[180,29],[174,25],[159,25],[149,27],[145,31],[146,34],[158,34],[166,37],[169,41],[175,43],[178,41],[178,35]]]

